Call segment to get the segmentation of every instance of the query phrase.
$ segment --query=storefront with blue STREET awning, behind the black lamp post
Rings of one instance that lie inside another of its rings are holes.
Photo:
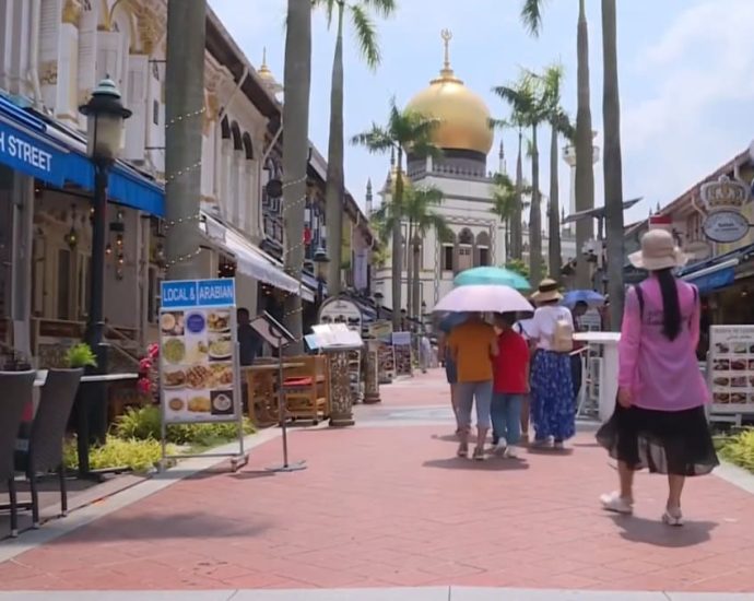
[[[79,133],[0,96],[0,341],[39,367],[83,337],[94,168]],[[122,162],[108,187],[108,338],[143,342],[162,187]],[[136,310],[134,310],[136,307]]]

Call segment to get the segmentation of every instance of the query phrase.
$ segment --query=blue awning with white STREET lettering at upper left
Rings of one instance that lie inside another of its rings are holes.
[[[92,162],[74,148],[82,142],[62,128],[52,134],[50,128],[0,95],[0,163],[59,188],[73,184],[93,190]],[[163,188],[122,162],[110,172],[108,198],[152,215],[165,214]]]

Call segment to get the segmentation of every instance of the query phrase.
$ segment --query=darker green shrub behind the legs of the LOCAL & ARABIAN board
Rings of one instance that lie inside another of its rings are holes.
[[[137,438],[139,440],[160,440],[160,408],[155,405],[139,409],[129,408],[118,417],[113,428],[118,438]],[[244,434],[252,434],[254,424],[244,417]],[[220,424],[172,424],[167,426],[167,441],[175,445],[199,447],[233,440],[237,436],[235,422]]]

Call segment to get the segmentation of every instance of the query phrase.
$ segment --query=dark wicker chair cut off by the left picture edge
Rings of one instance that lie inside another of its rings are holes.
[[[36,372],[0,372],[0,482],[8,483],[11,537],[19,535],[19,504],[15,491],[15,441],[24,409],[33,401]]]

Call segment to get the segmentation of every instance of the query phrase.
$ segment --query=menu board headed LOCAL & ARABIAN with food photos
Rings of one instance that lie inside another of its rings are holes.
[[[166,424],[238,420],[235,281],[162,284],[160,374]]]

